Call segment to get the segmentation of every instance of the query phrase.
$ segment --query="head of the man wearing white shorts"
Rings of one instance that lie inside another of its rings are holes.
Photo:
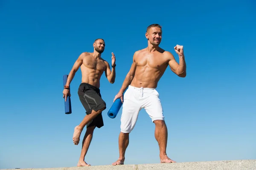
[[[145,34],[148,41],[153,46],[158,46],[161,43],[162,40],[162,28],[159,25],[151,26],[147,29],[147,32]]]

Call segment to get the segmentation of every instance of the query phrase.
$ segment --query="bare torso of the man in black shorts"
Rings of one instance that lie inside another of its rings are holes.
[[[88,83],[99,88],[100,78],[107,67],[105,62],[102,58],[95,58],[92,53],[85,52],[83,63],[80,66],[82,83]]]

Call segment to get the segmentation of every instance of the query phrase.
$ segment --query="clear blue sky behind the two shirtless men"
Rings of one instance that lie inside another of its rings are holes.
[[[71,83],[73,113],[65,115],[62,76],[93,41],[116,55],[116,82],[101,79],[105,126],[95,130],[85,161],[117,160],[120,116],[107,112],[147,46],[148,25],[163,26],[160,47],[184,46],[186,78],[168,67],[157,91],[169,131],[167,154],[177,162],[256,159],[256,3],[224,1],[0,0],[0,168],[76,166],[81,143],[73,130],[84,118]],[[84,135],[85,132],[81,134]],[[159,163],[154,124],[144,110],[130,134],[125,164]]]

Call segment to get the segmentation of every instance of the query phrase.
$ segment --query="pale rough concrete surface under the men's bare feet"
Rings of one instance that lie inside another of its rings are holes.
[[[9,169],[17,170],[17,169]],[[172,164],[128,164],[90,167],[29,168],[19,170],[256,170],[256,159],[236,161],[181,162]]]

